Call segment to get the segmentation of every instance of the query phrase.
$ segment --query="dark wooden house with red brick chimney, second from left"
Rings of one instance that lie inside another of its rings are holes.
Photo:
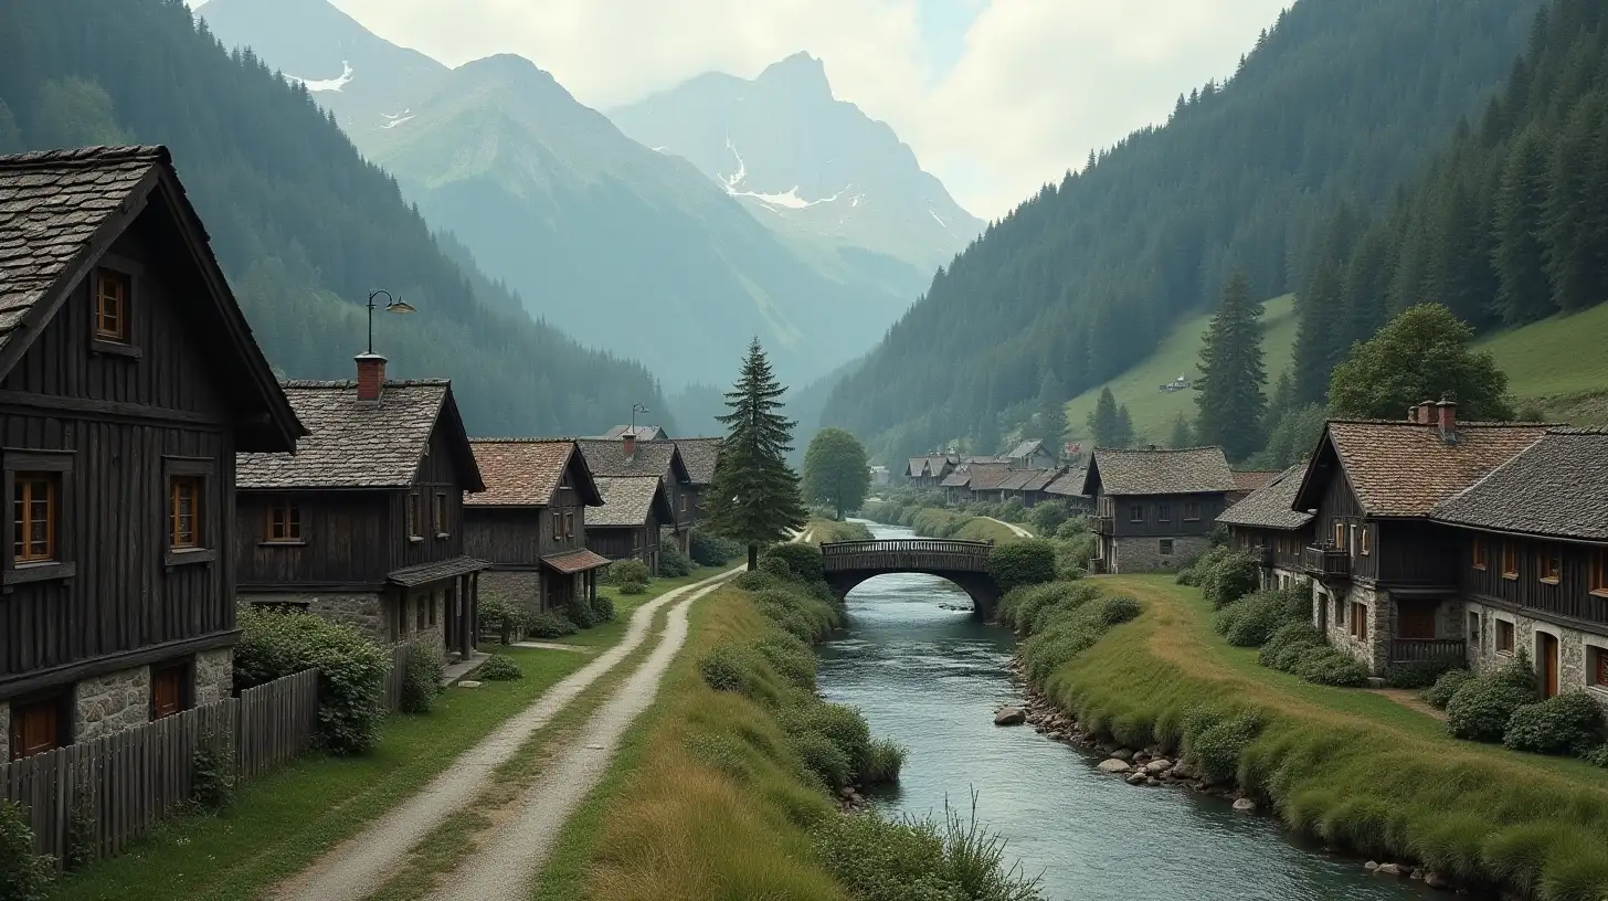
[[[289,381],[310,430],[294,455],[240,454],[240,595],[349,623],[379,644],[474,650],[476,576],[463,494],[484,491],[445,380]]]

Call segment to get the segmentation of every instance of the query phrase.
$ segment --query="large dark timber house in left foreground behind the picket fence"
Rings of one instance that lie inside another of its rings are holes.
[[[301,434],[166,148],[0,156],[10,758],[232,693],[235,452]]]

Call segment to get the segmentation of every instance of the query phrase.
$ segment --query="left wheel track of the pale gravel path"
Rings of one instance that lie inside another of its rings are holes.
[[[294,898],[296,901],[357,901],[378,890],[402,864],[413,845],[429,835],[450,814],[474,801],[492,771],[511,758],[526,738],[547,726],[592,682],[597,682],[598,677],[637,650],[648,637],[648,627],[661,607],[683,597],[688,600],[701,597],[727,574],[730,573],[666,592],[662,597],[638,607],[619,644],[544,692],[531,706],[516,713],[495,732],[465,751],[416,795],[368,824],[359,835],[336,845],[306,870],[280,883],[273,896]],[[685,636],[685,602],[677,610],[682,611],[680,623]],[[672,615],[672,623],[674,619]],[[669,632],[666,632],[661,647],[667,644]],[[651,660],[656,658],[658,653]],[[637,677],[634,676],[630,685],[635,684]]]

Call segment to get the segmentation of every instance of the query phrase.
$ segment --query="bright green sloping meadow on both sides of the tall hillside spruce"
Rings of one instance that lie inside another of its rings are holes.
[[[1211,323],[1211,315],[1203,314],[1187,319],[1172,330],[1159,348],[1134,368],[1108,381],[1106,385],[1084,391],[1066,405],[1066,422],[1073,441],[1089,441],[1089,413],[1100,399],[1100,389],[1110,386],[1119,404],[1127,404],[1127,412],[1134,417],[1134,433],[1140,442],[1164,442],[1172,433],[1172,420],[1179,413],[1195,418],[1193,391],[1158,391],[1156,386],[1172,381],[1179,375],[1195,378],[1200,375],[1201,335]],[[1264,343],[1262,351],[1267,360],[1267,385],[1272,388],[1278,376],[1290,367],[1290,357],[1296,346],[1296,312],[1294,296],[1285,294],[1267,301],[1267,312],[1262,315]]]

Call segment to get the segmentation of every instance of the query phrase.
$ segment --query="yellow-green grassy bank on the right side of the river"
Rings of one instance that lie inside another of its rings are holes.
[[[1167,578],[1095,582],[1145,611],[1045,682],[1089,727],[1175,750],[1192,711],[1253,711],[1262,727],[1238,750],[1238,780],[1293,829],[1542,901],[1608,895],[1608,771],[1458,742],[1384,697],[1264,669]]]

